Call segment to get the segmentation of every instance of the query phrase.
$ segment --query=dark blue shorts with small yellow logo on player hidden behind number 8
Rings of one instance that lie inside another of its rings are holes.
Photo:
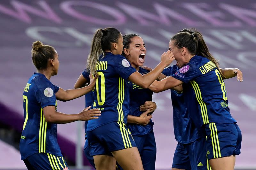
[[[173,156],[172,168],[209,170],[210,164],[206,158],[205,138],[199,138],[188,144],[178,143]]]

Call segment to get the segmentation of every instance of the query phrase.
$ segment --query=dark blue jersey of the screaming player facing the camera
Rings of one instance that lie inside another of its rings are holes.
[[[148,71],[144,68],[139,67],[139,73],[147,74]],[[136,84],[129,81],[130,84],[130,111],[129,114],[132,116],[140,116],[140,105],[143,105],[146,101],[152,101],[153,92],[149,89],[143,89]],[[145,135],[153,129],[154,123],[150,119],[147,126],[127,124],[127,127],[131,130],[132,135]]]

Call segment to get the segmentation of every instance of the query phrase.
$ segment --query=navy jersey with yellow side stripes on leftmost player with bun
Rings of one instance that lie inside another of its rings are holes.
[[[42,108],[53,105],[57,110],[55,93],[59,87],[44,74],[34,73],[23,92],[24,124],[20,139],[21,159],[34,153],[50,153],[60,156],[57,142],[57,125],[47,123]]]

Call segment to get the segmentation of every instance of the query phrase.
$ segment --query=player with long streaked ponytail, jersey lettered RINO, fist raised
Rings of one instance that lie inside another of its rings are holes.
[[[93,75],[99,75],[93,92],[93,108],[100,108],[102,113],[98,120],[89,121],[87,125],[90,155],[96,169],[113,169],[116,161],[123,169],[143,169],[136,144],[125,125],[129,113],[127,79],[148,88],[174,59],[168,50],[152,72],[141,75],[121,55],[122,50],[120,31],[116,28],[98,29],[87,59],[87,69]],[[116,160],[109,156],[109,151]]]

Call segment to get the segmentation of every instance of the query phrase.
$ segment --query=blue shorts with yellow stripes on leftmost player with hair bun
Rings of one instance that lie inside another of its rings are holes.
[[[68,165],[63,157],[58,157],[50,153],[35,153],[23,161],[28,170],[68,170]]]

